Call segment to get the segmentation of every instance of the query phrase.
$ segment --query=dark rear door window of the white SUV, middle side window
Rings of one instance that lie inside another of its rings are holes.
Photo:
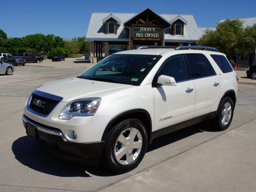
[[[214,76],[216,73],[204,54],[186,54],[193,79]]]

